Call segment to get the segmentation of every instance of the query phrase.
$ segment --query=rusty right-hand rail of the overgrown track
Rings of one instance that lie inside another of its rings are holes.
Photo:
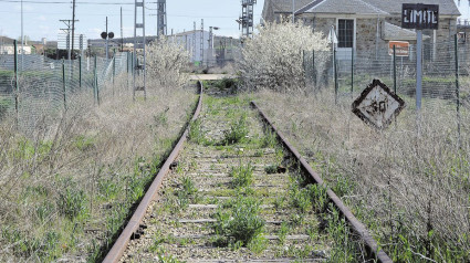
[[[357,220],[356,217],[354,217],[353,212],[343,203],[343,201],[332,191],[323,179],[312,169],[312,167],[309,165],[309,162],[301,156],[301,154],[292,146],[284,135],[274,127],[271,119],[261,111],[260,107],[258,107],[257,103],[251,102],[251,105],[258,109],[263,120],[271,127],[271,129],[278,135],[278,137],[281,139],[282,144],[285,148],[289,149],[289,151],[300,161],[301,167],[312,177],[312,179],[321,185],[326,187],[328,198],[332,200],[332,202],[336,206],[337,209],[340,209],[341,213],[346,218],[352,229],[361,236],[361,239],[365,242],[367,249],[370,253],[373,253],[374,257],[376,257],[379,262],[383,263],[393,263],[391,259],[385,253],[383,250],[379,249],[377,242],[374,240],[374,238],[370,235],[366,227]]]

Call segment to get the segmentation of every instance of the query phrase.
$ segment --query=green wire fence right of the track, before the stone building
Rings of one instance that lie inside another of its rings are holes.
[[[404,98],[408,109],[415,111],[416,45],[409,44],[406,56],[396,54],[393,49],[303,51],[305,82],[314,92],[334,91],[336,102],[352,104],[373,80],[380,80]],[[425,42],[421,109],[453,111],[460,127],[459,116],[470,112],[469,66],[470,43],[457,38],[436,44]]]

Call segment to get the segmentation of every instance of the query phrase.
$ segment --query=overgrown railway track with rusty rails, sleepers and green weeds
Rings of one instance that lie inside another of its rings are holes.
[[[341,214],[391,262],[255,104],[207,94],[104,262],[331,261]]]

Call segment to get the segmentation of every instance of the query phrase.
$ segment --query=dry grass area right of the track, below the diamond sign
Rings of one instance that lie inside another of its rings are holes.
[[[469,112],[459,150],[455,106],[445,101],[425,102],[418,135],[412,99],[396,126],[377,132],[332,92],[258,97],[394,261],[470,260]]]

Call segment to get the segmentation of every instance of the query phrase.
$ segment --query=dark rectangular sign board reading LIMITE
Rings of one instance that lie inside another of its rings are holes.
[[[439,28],[439,6],[404,3],[401,8],[401,28],[437,30]]]

